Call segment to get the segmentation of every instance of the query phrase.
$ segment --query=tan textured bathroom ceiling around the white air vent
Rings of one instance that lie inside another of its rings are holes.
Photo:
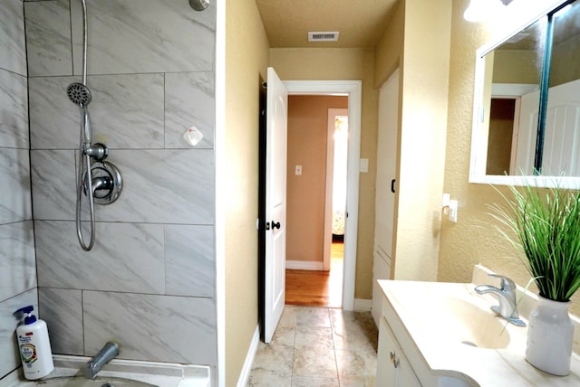
[[[399,0],[256,0],[270,47],[374,47]],[[340,33],[308,42],[308,32]]]

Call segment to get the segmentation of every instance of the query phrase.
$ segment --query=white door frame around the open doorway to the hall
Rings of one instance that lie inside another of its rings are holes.
[[[343,310],[354,310],[356,244],[359,218],[362,80],[283,80],[288,95],[348,96],[348,161],[344,231]]]

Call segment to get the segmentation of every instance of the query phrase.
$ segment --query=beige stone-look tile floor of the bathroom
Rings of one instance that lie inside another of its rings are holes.
[[[370,312],[286,306],[260,343],[248,386],[374,386],[378,330]]]

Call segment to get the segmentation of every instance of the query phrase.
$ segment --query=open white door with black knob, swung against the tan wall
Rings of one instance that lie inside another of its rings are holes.
[[[264,341],[284,311],[286,255],[286,143],[288,92],[268,67],[266,97],[266,263]]]

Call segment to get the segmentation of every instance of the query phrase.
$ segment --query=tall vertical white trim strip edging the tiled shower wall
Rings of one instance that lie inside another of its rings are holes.
[[[218,366],[211,385],[226,387],[226,3],[216,2],[216,320]]]

